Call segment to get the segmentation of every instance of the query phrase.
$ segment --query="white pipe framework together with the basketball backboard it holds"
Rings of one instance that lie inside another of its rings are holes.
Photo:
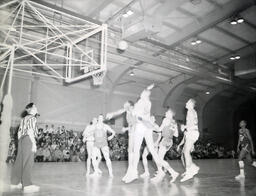
[[[0,15],[0,68],[13,58],[14,71],[68,83],[106,72],[107,25],[30,0],[4,3]]]

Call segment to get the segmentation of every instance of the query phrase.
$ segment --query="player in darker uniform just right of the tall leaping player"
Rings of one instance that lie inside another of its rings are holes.
[[[165,154],[173,145],[173,136],[178,137],[178,126],[175,120],[173,119],[174,112],[169,109],[165,113],[165,118],[160,126],[159,131],[161,132],[160,143],[159,143],[159,150],[158,156],[161,160],[164,160]],[[162,167],[157,168],[157,175],[152,178],[152,181],[159,182],[165,176],[165,172],[163,171]],[[169,168],[172,174],[172,180],[170,182],[174,182],[176,178],[179,176],[179,173],[174,171],[171,167]]]

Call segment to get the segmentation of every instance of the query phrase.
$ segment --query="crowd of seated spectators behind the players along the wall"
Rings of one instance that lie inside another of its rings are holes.
[[[14,133],[17,129],[13,130]],[[11,134],[11,142],[7,162],[14,162],[17,154],[17,139]],[[82,142],[82,132],[67,130],[64,126],[55,128],[54,125],[45,125],[38,129],[36,162],[79,162],[85,161],[87,151]],[[177,142],[176,142],[177,143]],[[128,159],[128,134],[117,134],[109,141],[110,158],[112,160]],[[143,150],[143,149],[142,149]],[[234,158],[233,150],[227,151],[224,147],[211,143],[198,141],[192,153],[194,159],[206,158]],[[179,159],[180,152],[176,151],[176,144],[167,152],[167,159]],[[149,156],[150,159],[150,156]]]

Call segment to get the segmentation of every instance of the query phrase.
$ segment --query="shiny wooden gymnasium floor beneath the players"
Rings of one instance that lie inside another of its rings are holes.
[[[171,161],[179,172],[183,171],[179,161]],[[159,184],[152,184],[148,179],[139,179],[130,184],[121,182],[127,162],[113,162],[115,177],[108,178],[105,163],[101,163],[102,177],[85,177],[85,165],[79,163],[35,163],[33,180],[41,186],[39,193],[33,196],[222,196],[256,195],[256,169],[246,166],[246,179],[236,181],[238,174],[236,160],[197,160],[200,173],[187,182],[179,179],[169,184],[168,176]],[[153,164],[149,162],[150,170]],[[142,172],[142,167],[139,165]],[[22,191],[6,191],[3,195],[23,195]]]

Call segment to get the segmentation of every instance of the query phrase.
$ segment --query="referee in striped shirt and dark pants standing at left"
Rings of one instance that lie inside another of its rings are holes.
[[[21,189],[24,193],[38,192],[40,187],[32,185],[31,171],[36,152],[37,108],[33,103],[26,106],[27,115],[21,120],[18,130],[18,154],[11,175],[11,189]]]

